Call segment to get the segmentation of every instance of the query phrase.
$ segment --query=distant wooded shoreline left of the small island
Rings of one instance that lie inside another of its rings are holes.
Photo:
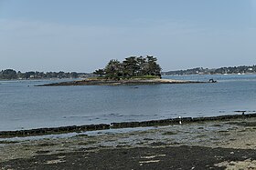
[[[16,72],[13,69],[6,69],[0,72],[0,79],[48,79],[48,78],[79,78],[84,77],[88,74],[85,73],[65,73],[65,72],[26,72],[21,73],[20,71]]]

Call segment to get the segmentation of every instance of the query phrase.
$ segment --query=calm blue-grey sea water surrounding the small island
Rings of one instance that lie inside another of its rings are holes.
[[[143,121],[256,110],[256,75],[164,78],[218,84],[37,87],[56,81],[0,81],[0,131]]]

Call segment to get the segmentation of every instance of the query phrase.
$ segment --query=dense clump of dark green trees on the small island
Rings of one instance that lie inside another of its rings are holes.
[[[93,72],[94,75],[109,79],[131,78],[134,76],[155,75],[161,77],[161,67],[154,56],[130,56],[123,62],[111,60],[103,69]]]

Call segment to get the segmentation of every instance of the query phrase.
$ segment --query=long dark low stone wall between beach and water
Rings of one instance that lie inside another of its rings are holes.
[[[242,114],[242,115],[219,115],[219,116],[209,116],[209,117],[180,117],[162,120],[150,120],[142,122],[122,122],[122,123],[112,123],[100,124],[100,125],[71,125],[71,126],[60,126],[60,127],[50,127],[50,128],[37,128],[29,130],[16,130],[16,131],[0,131],[1,138],[16,137],[16,136],[32,136],[32,135],[57,135],[65,134],[70,132],[86,132],[95,130],[105,130],[114,128],[127,128],[127,127],[140,127],[140,126],[155,126],[155,125],[182,125],[191,123],[200,123],[207,121],[227,121],[240,118],[251,118],[256,117],[254,114]]]

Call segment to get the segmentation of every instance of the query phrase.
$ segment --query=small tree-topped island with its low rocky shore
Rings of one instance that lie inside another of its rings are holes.
[[[162,79],[161,66],[154,56],[130,56],[120,62],[110,60],[105,68],[95,70],[92,77],[78,81],[61,82],[37,86],[59,85],[158,85],[207,83],[198,81]]]

